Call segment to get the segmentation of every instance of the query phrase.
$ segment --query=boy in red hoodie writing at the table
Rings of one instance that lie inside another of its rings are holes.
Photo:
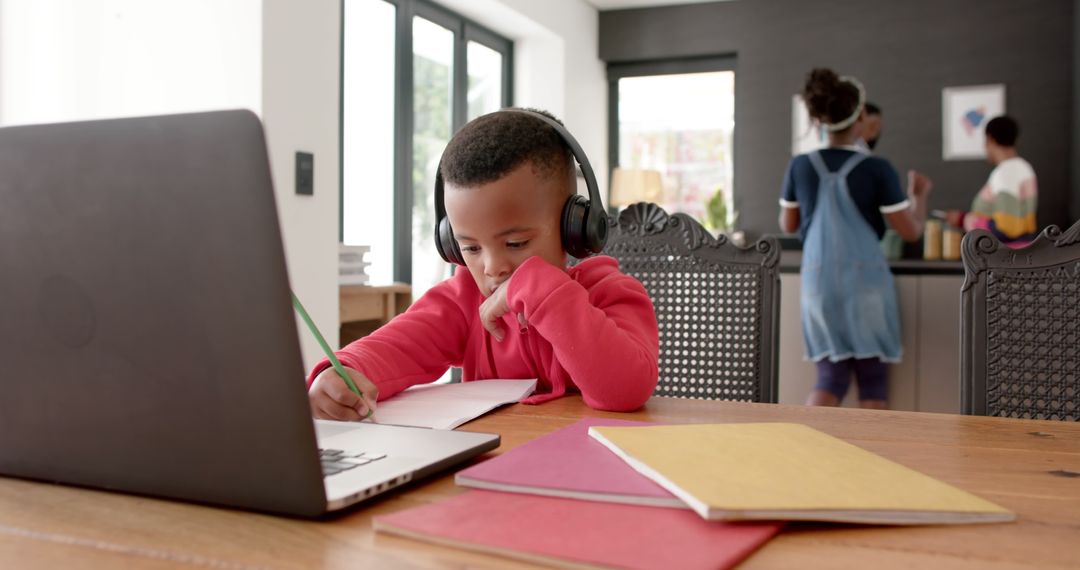
[[[562,212],[577,181],[562,136],[527,113],[486,114],[454,136],[441,172],[468,271],[337,353],[372,411],[377,399],[450,366],[463,367],[463,381],[537,378],[526,404],[576,389],[596,409],[640,407],[657,384],[656,313],[645,287],[615,259],[567,269]],[[308,382],[315,417],[367,415],[327,362]]]

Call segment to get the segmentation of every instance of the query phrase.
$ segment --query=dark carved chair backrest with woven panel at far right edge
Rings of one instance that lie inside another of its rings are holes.
[[[1080,420],[1080,221],[1012,249],[963,238],[963,412]]]

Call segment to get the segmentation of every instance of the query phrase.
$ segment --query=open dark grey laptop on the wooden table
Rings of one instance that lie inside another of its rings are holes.
[[[0,475],[318,516],[498,447],[312,421],[298,332],[255,114],[0,128]]]

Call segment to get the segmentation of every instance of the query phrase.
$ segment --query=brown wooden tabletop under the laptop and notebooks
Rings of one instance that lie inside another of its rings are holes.
[[[1077,423],[670,398],[618,415],[571,396],[462,429],[502,434],[505,451],[583,416],[805,423],[1018,515],[955,527],[794,525],[741,568],[1080,568]],[[372,531],[373,516],[458,492],[445,475],[311,521],[0,478],[0,568],[534,568]]]

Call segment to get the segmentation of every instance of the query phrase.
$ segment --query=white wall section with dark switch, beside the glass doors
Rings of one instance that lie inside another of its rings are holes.
[[[262,0],[262,121],[293,290],[338,341],[338,60],[336,0]],[[295,192],[295,154],[315,157],[314,194]],[[322,357],[298,320],[305,364]]]

